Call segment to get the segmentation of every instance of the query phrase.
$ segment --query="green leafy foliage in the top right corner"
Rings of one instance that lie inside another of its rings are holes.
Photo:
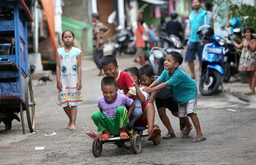
[[[242,28],[252,26],[256,30],[256,7],[243,4],[238,0],[213,0],[214,2],[214,21],[225,25],[226,14],[230,8],[230,18],[239,17]]]

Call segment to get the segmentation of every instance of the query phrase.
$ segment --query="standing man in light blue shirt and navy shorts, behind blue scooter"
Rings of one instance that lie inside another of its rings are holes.
[[[187,44],[187,51],[185,54],[185,61],[188,62],[191,78],[196,79],[194,71],[194,60],[196,60],[196,53],[198,53],[198,60],[200,61],[199,70],[201,67],[201,59],[203,52],[203,41],[199,38],[197,31],[198,28],[204,24],[210,24],[210,19],[205,10],[201,8],[202,0],[192,0],[192,7],[195,9],[189,14],[189,42]]]

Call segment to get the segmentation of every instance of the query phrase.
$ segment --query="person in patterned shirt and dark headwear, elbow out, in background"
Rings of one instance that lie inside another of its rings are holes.
[[[105,26],[102,22],[99,21],[99,13],[93,13],[92,20],[93,20],[93,60],[100,70],[98,76],[101,76],[101,75],[103,76],[104,73],[102,73],[101,59],[103,58],[104,42],[102,38],[110,32],[110,29],[107,26]]]

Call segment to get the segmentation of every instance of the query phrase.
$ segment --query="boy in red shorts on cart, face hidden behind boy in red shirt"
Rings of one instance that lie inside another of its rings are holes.
[[[149,141],[154,140],[158,135],[161,134],[161,129],[159,128],[153,128],[154,121],[155,121],[155,108],[152,101],[147,101],[149,99],[149,94],[145,91],[142,91],[144,87],[139,87],[139,78],[140,73],[138,68],[136,67],[130,67],[126,68],[124,72],[127,72],[131,79],[134,82],[134,85],[136,87],[137,96],[135,98],[136,101],[140,101],[142,105],[142,115],[139,117],[139,119],[134,123],[133,126],[139,126],[139,127],[146,127],[148,125],[148,134],[149,134]]]

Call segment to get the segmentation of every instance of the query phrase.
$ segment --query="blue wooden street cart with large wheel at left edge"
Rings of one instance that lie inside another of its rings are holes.
[[[15,54],[0,54],[0,111],[20,113],[25,134],[23,111],[28,128],[34,131],[35,102],[31,80],[28,77],[27,22],[33,18],[24,0],[0,1],[0,39],[15,40]],[[8,42],[7,42],[8,41]]]

